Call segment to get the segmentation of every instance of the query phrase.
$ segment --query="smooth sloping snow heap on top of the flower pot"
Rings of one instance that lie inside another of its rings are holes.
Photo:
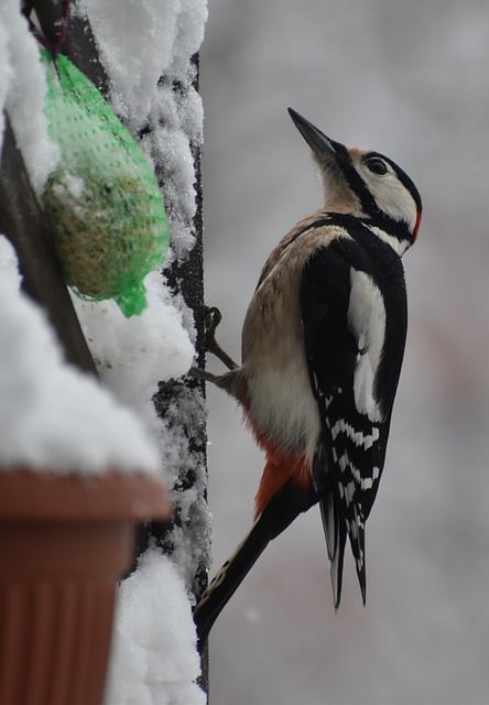
[[[157,475],[157,448],[132,412],[63,360],[44,313],[19,291],[0,237],[0,466]]]

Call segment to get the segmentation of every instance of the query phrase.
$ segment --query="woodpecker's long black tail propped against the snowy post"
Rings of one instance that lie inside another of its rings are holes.
[[[214,622],[240,586],[267,545],[294,519],[318,500],[312,490],[297,488],[291,480],[273,497],[258,517],[244,541],[226,561],[194,609],[194,621],[200,647]]]

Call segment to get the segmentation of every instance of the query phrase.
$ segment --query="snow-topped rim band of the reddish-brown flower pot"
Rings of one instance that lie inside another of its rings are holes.
[[[170,520],[162,480],[145,473],[100,475],[0,470],[0,521]]]

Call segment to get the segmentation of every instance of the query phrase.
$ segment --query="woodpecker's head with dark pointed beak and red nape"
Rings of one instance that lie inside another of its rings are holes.
[[[416,239],[422,213],[421,196],[408,174],[384,154],[347,149],[292,108],[289,113],[319,165],[326,208],[369,219],[402,254]]]

